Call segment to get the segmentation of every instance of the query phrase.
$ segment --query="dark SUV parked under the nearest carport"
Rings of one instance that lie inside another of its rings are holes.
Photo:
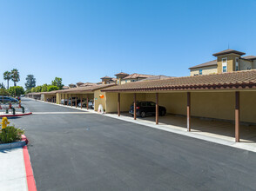
[[[134,115],[133,113],[133,103],[131,105],[129,114]],[[166,114],[165,107],[158,107],[159,115],[163,116]],[[136,102],[136,115],[145,117],[146,115],[156,115],[156,103],[155,102]]]

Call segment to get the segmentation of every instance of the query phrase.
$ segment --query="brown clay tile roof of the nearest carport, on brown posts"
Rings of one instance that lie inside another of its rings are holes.
[[[131,82],[102,91],[163,91],[163,90],[205,90],[205,89],[250,89],[256,88],[256,70],[230,73],[174,77],[171,79]]]

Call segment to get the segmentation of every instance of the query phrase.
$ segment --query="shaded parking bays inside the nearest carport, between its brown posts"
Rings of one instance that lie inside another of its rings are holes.
[[[159,110],[158,124],[188,128],[187,117],[187,93],[106,93],[107,113],[131,116],[129,110],[136,100],[138,102],[158,102],[158,108],[164,107],[167,115],[161,116]],[[240,142],[256,142],[255,103],[250,97],[255,92],[240,93],[239,114],[239,138]],[[158,98],[158,99],[157,99]],[[192,92],[190,97],[190,129],[193,132],[234,139],[235,137],[235,93],[234,92]],[[113,104],[115,102],[116,104]],[[111,105],[110,105],[111,104]],[[111,107],[110,107],[111,106]],[[137,107],[139,108],[139,107]],[[155,106],[153,107],[156,111]],[[140,117],[141,109],[137,109],[137,117]],[[131,116],[133,117],[133,116]],[[145,118],[139,118],[145,122],[156,122],[156,112]]]

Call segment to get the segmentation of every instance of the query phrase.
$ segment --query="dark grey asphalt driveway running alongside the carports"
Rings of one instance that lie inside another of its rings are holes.
[[[22,102],[42,113],[10,119],[30,140],[37,190],[256,190],[253,152]]]

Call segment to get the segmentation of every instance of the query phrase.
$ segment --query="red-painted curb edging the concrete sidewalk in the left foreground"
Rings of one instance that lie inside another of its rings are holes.
[[[27,138],[25,135],[23,136],[23,139],[25,139],[25,141],[27,142]],[[23,148],[24,148],[24,163],[25,163],[25,169],[26,169],[28,190],[37,191],[36,181],[35,181],[33,170],[30,163],[30,154],[28,151],[28,147],[24,146]]]

